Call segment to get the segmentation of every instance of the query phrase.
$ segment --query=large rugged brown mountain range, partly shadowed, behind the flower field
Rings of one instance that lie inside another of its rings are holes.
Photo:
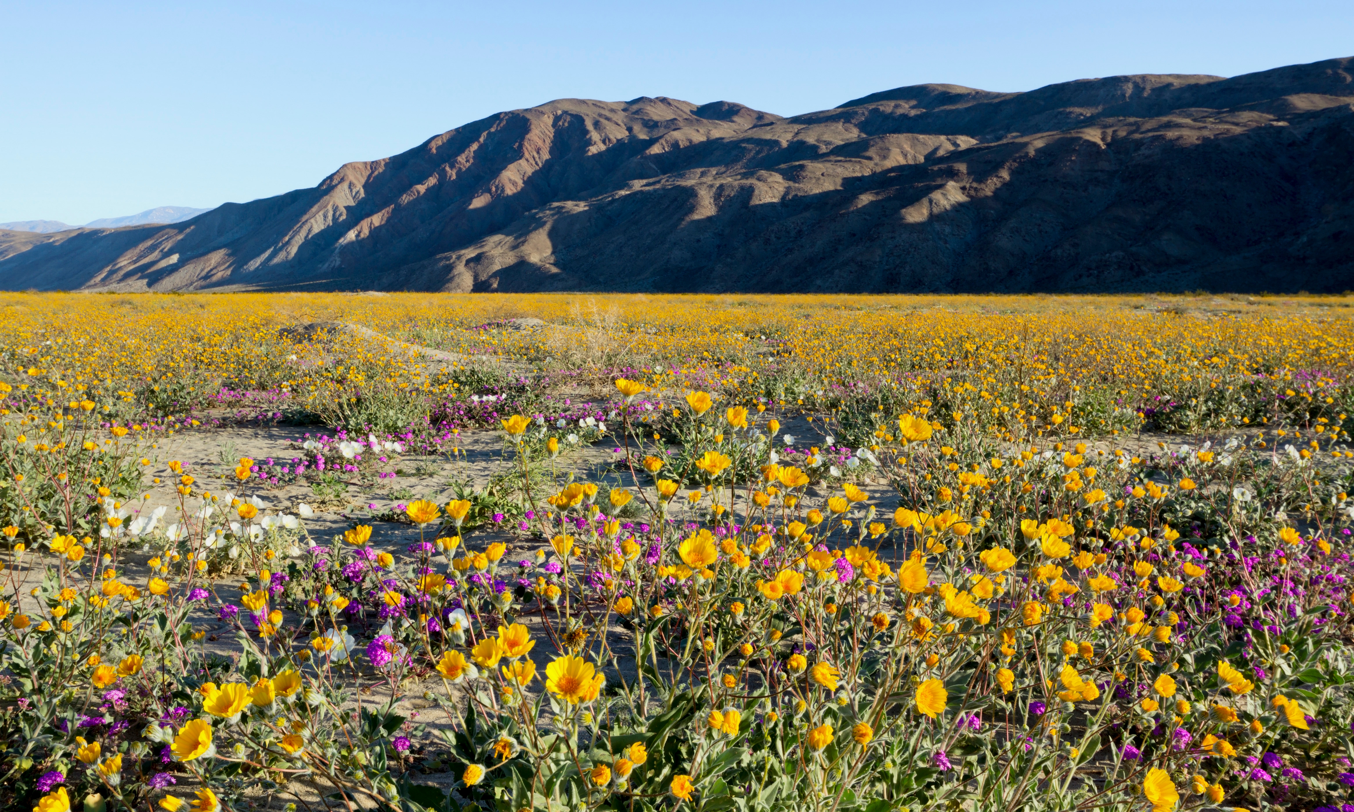
[[[0,287],[1342,291],[1351,74],[561,99],[179,223],[0,231]]]

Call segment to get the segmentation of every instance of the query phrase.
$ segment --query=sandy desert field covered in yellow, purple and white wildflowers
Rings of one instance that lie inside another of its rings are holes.
[[[0,311],[4,809],[1354,809],[1351,298]]]

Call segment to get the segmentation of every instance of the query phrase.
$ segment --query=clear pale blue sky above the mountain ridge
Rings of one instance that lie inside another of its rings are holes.
[[[276,195],[566,96],[792,115],[922,83],[1028,91],[1342,55],[1350,0],[4,0],[0,222]]]

